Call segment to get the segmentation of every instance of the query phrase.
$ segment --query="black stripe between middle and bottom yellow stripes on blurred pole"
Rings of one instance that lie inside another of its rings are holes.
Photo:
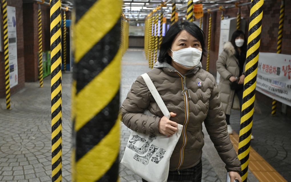
[[[100,88],[102,89],[102,88]],[[119,110],[119,91],[110,103],[76,133],[76,161],[96,146],[116,123]],[[102,123],[102,125],[100,125]]]

